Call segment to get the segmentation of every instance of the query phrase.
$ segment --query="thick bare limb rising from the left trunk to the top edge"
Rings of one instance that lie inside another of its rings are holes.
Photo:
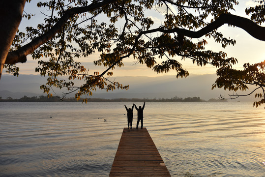
[[[6,57],[5,64],[15,64],[18,62],[26,62],[27,61],[26,56],[32,53],[40,45],[52,39],[55,36],[55,34],[58,33],[63,28],[67,20],[69,20],[73,15],[88,12],[88,11],[93,11],[99,7],[106,6],[114,1],[116,0],[104,0],[98,3],[92,3],[88,6],[74,7],[74,8],[66,10],[63,16],[60,18],[60,20],[46,33],[33,39],[31,42],[20,47],[18,50],[9,52]]]

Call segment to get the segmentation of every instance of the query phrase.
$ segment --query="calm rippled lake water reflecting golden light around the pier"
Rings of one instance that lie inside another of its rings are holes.
[[[0,176],[108,177],[124,104],[0,102]],[[265,177],[263,107],[147,102],[144,126],[172,177]]]

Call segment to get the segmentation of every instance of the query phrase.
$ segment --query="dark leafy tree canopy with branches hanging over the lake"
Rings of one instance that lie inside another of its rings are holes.
[[[76,99],[80,99],[81,95],[91,95],[95,89],[128,89],[128,86],[111,82],[108,77],[129,57],[157,73],[176,70],[177,77],[189,75],[182,68],[181,60],[190,59],[198,66],[217,68],[219,77],[212,88],[244,91],[248,85],[256,85],[261,90],[256,94],[261,99],[254,103],[258,106],[265,103],[265,61],[253,65],[246,63],[244,70],[236,70],[233,64],[237,59],[227,57],[225,52],[205,48],[208,38],[213,38],[223,48],[236,44],[234,39],[218,31],[224,24],[242,28],[265,41],[265,28],[260,26],[265,22],[265,0],[245,9],[250,19],[231,14],[236,5],[236,0],[41,1],[37,6],[48,9],[44,22],[37,28],[17,31],[5,67],[7,72],[18,75],[19,68],[14,64],[25,62],[30,54],[38,59],[36,72],[49,76],[47,84],[41,86],[48,96],[52,95],[53,86],[67,88],[67,93],[76,92]],[[147,11],[164,15],[161,26],[154,25]],[[23,17],[30,20],[32,14],[24,12]],[[104,72],[90,73],[75,60],[89,58],[92,54],[99,54],[94,65],[104,65]],[[59,79],[59,76],[67,76],[69,80]],[[84,84],[76,86],[74,79],[82,79]]]

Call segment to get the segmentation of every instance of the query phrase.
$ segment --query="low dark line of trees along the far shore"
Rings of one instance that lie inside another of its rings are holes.
[[[81,101],[80,99],[79,101]],[[75,98],[61,98],[59,96],[53,96],[48,98],[48,96],[41,95],[39,97],[37,96],[23,96],[19,99],[13,99],[12,97],[7,97],[6,99],[2,99],[0,96],[0,102],[59,102],[59,101],[65,101],[65,102],[76,102],[77,100]],[[177,96],[172,98],[115,98],[115,99],[105,99],[105,98],[88,98],[88,101],[90,102],[142,102],[142,101],[148,101],[148,102],[203,102],[206,100],[202,100],[200,97],[187,97],[187,98],[179,98]],[[214,99],[211,98],[208,101],[217,102],[217,101],[227,101],[227,100],[220,100],[220,99]]]

